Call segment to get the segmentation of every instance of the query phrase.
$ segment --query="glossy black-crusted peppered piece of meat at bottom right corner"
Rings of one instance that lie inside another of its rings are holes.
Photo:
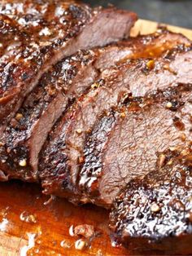
[[[164,166],[126,185],[110,214],[116,244],[135,254],[192,254],[191,157],[190,148],[168,149]]]

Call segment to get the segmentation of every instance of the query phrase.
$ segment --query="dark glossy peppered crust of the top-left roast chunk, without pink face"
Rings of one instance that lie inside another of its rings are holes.
[[[63,43],[79,33],[90,13],[89,7],[75,2],[1,3],[1,121],[14,112],[19,94],[32,89],[28,83],[55,58]]]

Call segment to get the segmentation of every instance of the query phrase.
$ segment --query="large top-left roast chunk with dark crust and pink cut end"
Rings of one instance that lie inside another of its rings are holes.
[[[50,66],[79,49],[127,38],[137,15],[75,1],[0,4],[0,121],[4,130]]]

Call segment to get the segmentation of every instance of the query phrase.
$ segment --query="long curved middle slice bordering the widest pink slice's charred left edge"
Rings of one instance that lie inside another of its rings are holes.
[[[154,68],[147,68],[149,60],[132,60],[126,64],[126,68],[122,64],[119,71],[111,68],[102,73],[102,79],[94,84],[95,89],[90,90],[68,111],[42,150],[39,170],[45,193],[65,196],[73,202],[80,201],[78,174],[85,161],[85,139],[94,123],[104,111],[121,104],[126,95],[137,95],[137,86],[134,88],[133,82],[137,85],[137,81],[140,81],[141,96],[153,89],[166,89],[177,83],[192,82],[192,52],[180,50],[174,51],[174,54],[172,52],[169,57],[155,60]],[[109,76],[111,70],[114,72]],[[81,199],[83,202],[89,201],[85,197]],[[107,199],[103,205],[108,204]]]

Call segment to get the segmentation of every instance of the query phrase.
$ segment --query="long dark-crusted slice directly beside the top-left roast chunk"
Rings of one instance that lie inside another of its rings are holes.
[[[158,38],[159,45],[155,46]],[[100,69],[109,68],[120,58],[138,55],[137,48],[141,55],[146,55],[144,52],[149,49],[159,53],[177,43],[186,45],[190,42],[180,34],[163,31],[103,48],[79,51],[56,64],[43,75],[3,133],[0,168],[5,173],[4,179],[37,179],[38,154],[48,132],[76,97],[85,93]]]

